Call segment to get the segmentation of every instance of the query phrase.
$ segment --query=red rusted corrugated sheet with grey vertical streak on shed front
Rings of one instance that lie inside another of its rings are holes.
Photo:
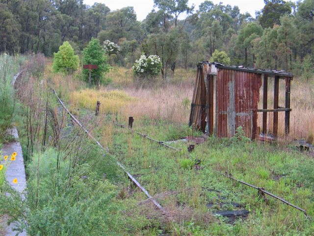
[[[262,75],[220,68],[216,83],[217,137],[232,137],[242,126],[247,137],[255,138]]]

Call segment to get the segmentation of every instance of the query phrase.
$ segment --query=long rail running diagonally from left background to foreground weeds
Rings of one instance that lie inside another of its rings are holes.
[[[59,103],[62,105],[62,107],[67,111],[67,113],[70,115],[70,117],[86,132],[86,134],[96,142],[96,144],[103,150],[105,151],[107,154],[111,155],[112,154],[109,152],[109,149],[108,147],[104,148],[89,132],[88,130],[78,121],[77,118],[75,118],[71,112],[68,110],[68,108],[64,105],[64,103],[62,102],[62,100],[59,98],[59,96],[57,95],[57,93],[55,92],[55,90],[53,89],[53,93],[54,95],[57,97]],[[127,176],[131,179],[131,181],[139,188],[141,189],[145,195],[148,197],[148,198],[152,198],[152,196],[148,193],[148,191],[126,170],[126,168],[119,162],[119,161],[116,161],[117,165],[127,174]],[[156,201],[156,200],[153,200],[152,201],[154,203],[154,205],[160,209],[160,210],[163,210],[163,207],[161,207],[161,205]]]

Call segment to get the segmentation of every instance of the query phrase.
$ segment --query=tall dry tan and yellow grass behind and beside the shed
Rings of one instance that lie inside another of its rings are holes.
[[[129,116],[135,119],[143,117],[163,119],[170,122],[186,124],[189,118],[190,104],[196,70],[177,69],[175,75],[167,80],[157,78],[145,86],[135,83],[131,69],[114,67],[107,74],[112,79],[109,87],[98,90],[82,89],[81,81],[72,78],[53,77],[55,84],[69,93],[73,107],[85,107],[95,110],[97,100],[102,105],[101,113],[118,113],[125,122]],[[311,80],[310,80],[311,81]],[[268,82],[268,108],[273,108],[273,79]],[[72,92],[71,92],[72,91]],[[214,96],[215,97],[215,96]],[[214,101],[215,102],[215,101]],[[279,106],[285,105],[285,82],[280,80]],[[312,84],[294,78],[290,95],[290,139],[304,138],[314,133],[314,88]],[[262,109],[262,87],[259,108]],[[214,111],[215,112],[215,111]],[[262,129],[262,113],[258,113],[258,126]],[[272,133],[273,114],[267,114],[267,131]],[[285,135],[285,113],[279,113],[278,135]]]

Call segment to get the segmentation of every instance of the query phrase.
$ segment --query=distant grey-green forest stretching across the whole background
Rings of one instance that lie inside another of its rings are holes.
[[[158,55],[166,68],[194,67],[215,50],[232,65],[300,73],[314,60],[314,0],[264,0],[256,17],[237,6],[205,0],[154,0],[143,21],[133,7],[111,11],[82,0],[0,0],[0,53],[43,53],[51,57],[64,41],[76,54],[94,37],[120,46],[113,63],[132,66],[142,53]],[[131,4],[131,1],[130,1]],[[181,16],[187,16],[182,19]],[[179,19],[180,18],[180,19]]]

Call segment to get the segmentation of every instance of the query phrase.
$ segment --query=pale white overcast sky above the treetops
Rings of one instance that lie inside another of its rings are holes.
[[[154,0],[83,0],[87,5],[93,5],[94,2],[105,3],[110,10],[117,10],[126,6],[133,6],[136,12],[137,20],[142,21],[147,14],[154,8]],[[200,3],[205,0],[189,0],[189,5],[194,4],[195,9],[198,9]],[[211,0],[214,4],[222,2],[224,5],[237,5],[241,13],[249,12],[255,17],[255,11],[261,10],[264,7],[263,0]]]

